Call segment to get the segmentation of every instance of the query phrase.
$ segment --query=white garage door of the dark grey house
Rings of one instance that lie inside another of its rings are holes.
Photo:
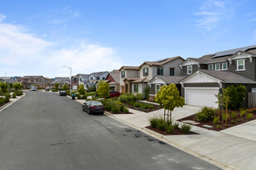
[[[218,107],[217,97],[219,88],[193,88],[185,87],[186,105]]]

